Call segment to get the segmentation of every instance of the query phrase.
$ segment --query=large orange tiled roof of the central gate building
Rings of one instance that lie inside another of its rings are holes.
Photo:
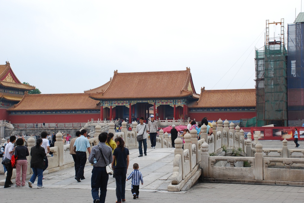
[[[182,98],[196,95],[190,68],[181,71],[117,73],[112,80],[93,89],[95,100]],[[87,92],[87,91],[86,91]]]

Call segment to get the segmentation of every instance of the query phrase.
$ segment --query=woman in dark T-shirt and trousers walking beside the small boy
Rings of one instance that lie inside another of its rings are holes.
[[[129,167],[129,150],[125,147],[125,142],[122,137],[116,137],[115,143],[117,148],[113,151],[112,168],[115,171],[116,180],[116,197],[117,203],[126,201],[126,174]],[[116,165],[115,164],[116,160]]]

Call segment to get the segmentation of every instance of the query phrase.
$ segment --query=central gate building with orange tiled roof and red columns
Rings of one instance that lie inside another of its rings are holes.
[[[161,120],[187,118],[188,103],[199,99],[188,67],[183,71],[138,73],[116,70],[109,82],[85,93],[100,101],[101,120],[147,118],[150,107]]]

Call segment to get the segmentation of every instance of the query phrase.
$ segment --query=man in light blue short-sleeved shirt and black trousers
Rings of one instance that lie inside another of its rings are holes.
[[[80,133],[81,136],[78,137],[74,143],[74,152],[76,152],[77,164],[79,164],[77,166],[79,169],[75,176],[75,179],[78,182],[81,182],[80,179],[83,178],[83,174],[85,171],[85,163],[87,162],[87,149],[89,154],[91,154],[91,146],[88,138],[86,138],[87,130],[83,129]]]

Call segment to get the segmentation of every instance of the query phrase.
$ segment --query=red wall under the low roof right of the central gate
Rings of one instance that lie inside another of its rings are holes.
[[[196,121],[201,121],[203,117],[207,117],[208,121],[222,120],[240,120],[241,118],[252,118],[255,117],[255,112],[191,112],[189,111],[189,117]]]

